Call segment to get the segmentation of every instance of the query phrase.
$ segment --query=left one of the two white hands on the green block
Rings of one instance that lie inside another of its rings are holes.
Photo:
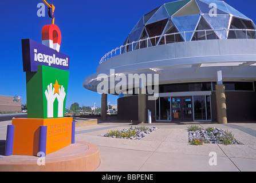
[[[53,118],[53,102],[55,101],[57,94],[54,94],[53,83],[47,86],[48,90],[45,90],[45,96],[47,99],[47,117]]]

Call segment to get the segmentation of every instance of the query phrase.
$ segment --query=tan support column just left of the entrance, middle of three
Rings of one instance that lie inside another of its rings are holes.
[[[145,94],[145,88],[139,89],[138,94],[138,114],[139,114],[139,122],[145,123],[146,122],[146,94]]]

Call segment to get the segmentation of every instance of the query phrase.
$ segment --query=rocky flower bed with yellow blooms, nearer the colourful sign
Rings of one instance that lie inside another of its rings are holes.
[[[112,137],[112,138],[125,138],[131,140],[140,140],[141,138],[148,136],[151,132],[157,130],[155,126],[146,128],[145,126],[140,126],[123,130],[111,130],[104,134],[102,137]]]

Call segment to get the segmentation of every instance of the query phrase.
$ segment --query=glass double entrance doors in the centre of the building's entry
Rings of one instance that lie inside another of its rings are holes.
[[[172,121],[192,121],[192,97],[171,97]]]

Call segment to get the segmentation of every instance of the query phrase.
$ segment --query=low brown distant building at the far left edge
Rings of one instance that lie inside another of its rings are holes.
[[[1,112],[20,112],[21,97],[0,96],[0,113]]]

